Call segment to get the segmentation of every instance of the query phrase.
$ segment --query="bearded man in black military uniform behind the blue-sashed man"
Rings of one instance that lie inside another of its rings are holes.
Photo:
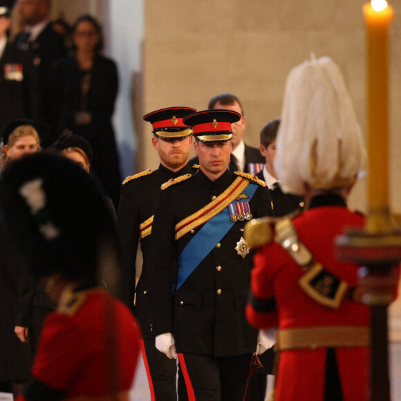
[[[192,144],[192,129],[183,124],[183,118],[194,111],[196,110],[189,107],[169,107],[144,115],[144,120],[151,122],[153,126],[152,144],[158,151],[160,165],[155,171],[142,171],[124,180],[118,207],[123,268],[121,297],[133,310],[142,328],[142,354],[151,377],[149,386],[151,392],[154,392],[153,400],[176,401],[177,368],[175,360],[169,360],[155,348],[149,303],[149,239],[160,186],[171,178],[193,172],[192,167],[187,164]],[[141,244],[143,265],[136,286],[138,241]],[[183,385],[183,393],[186,395],[184,383],[180,385]]]

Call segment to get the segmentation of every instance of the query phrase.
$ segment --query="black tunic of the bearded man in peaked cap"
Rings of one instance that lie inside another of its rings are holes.
[[[144,339],[154,339],[151,330],[151,306],[149,301],[149,263],[148,248],[151,235],[140,240],[143,264],[142,273],[136,287],[136,253],[140,239],[140,223],[153,216],[160,186],[170,178],[193,173],[186,165],[174,172],[163,165],[151,174],[133,178],[122,185],[118,206],[118,231],[122,251],[122,274],[120,297],[131,308],[138,319]],[[136,307],[133,299],[136,292]]]

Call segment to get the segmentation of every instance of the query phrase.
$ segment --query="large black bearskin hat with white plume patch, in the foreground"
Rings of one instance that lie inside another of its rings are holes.
[[[116,255],[115,220],[104,194],[67,158],[35,153],[12,162],[0,178],[0,213],[31,272],[40,277],[60,273],[95,285],[101,254]]]

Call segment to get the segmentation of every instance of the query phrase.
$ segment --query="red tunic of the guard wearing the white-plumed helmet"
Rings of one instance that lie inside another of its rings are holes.
[[[339,202],[337,202],[339,203]],[[328,272],[349,287],[357,286],[358,266],[337,261],[334,239],[346,226],[362,226],[364,218],[346,207],[308,209],[292,220],[301,243]],[[254,257],[252,302],[246,315],[252,326],[279,330],[327,326],[369,326],[369,308],[344,298],[338,309],[309,297],[299,286],[304,270],[281,245],[271,241]],[[262,308],[259,306],[263,305]],[[320,401],[325,398],[326,357],[329,348],[281,351],[275,400]],[[332,348],[333,351],[333,348]],[[343,401],[365,401],[369,349],[366,346],[334,348]]]

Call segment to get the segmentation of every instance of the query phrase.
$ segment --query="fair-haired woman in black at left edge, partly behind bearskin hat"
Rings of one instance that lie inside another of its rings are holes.
[[[38,150],[39,135],[32,122],[12,122],[3,132],[1,171],[15,160]],[[11,250],[16,251],[15,245],[0,227],[0,382],[10,384],[5,390],[16,398],[30,379],[32,357],[28,327],[36,282],[30,281],[18,254]],[[26,280],[30,282],[28,293],[21,292],[21,283]]]

